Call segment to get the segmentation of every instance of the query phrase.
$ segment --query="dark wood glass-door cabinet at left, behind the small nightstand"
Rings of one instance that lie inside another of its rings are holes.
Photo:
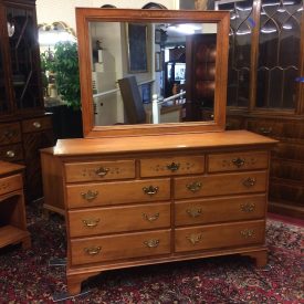
[[[0,159],[25,165],[25,196],[42,197],[39,149],[53,146],[40,76],[34,0],[0,0]]]

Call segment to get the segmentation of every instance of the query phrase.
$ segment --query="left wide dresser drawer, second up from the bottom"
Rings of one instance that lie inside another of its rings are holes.
[[[85,237],[170,227],[170,202],[69,211],[70,235]]]

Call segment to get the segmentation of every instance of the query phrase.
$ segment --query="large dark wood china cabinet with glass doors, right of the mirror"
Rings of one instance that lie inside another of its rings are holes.
[[[272,154],[271,212],[304,218],[303,0],[220,3],[230,10],[228,129],[280,140]]]

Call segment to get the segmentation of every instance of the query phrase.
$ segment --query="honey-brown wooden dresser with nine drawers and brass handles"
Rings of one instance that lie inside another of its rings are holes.
[[[265,265],[275,143],[247,130],[57,140],[43,175],[63,191],[70,294],[112,269],[226,254]]]

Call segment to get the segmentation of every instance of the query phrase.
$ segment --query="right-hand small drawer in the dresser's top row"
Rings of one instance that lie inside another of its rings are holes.
[[[229,153],[208,155],[208,171],[241,171],[266,169],[269,166],[268,151]]]

